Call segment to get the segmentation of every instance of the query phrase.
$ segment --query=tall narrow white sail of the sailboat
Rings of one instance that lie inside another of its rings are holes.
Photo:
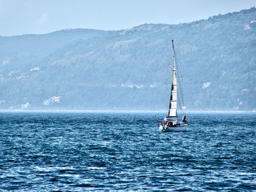
[[[174,46],[172,40],[172,53],[173,53],[173,81],[170,93],[170,107],[169,107],[169,118],[177,118],[177,77],[176,77],[176,65],[174,58]]]

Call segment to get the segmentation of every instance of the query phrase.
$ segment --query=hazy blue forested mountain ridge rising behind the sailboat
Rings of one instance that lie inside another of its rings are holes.
[[[187,110],[256,110],[256,9],[178,25],[0,37],[0,109],[166,110],[171,39]]]

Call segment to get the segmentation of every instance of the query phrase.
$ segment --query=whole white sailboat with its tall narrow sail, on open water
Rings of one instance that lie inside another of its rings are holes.
[[[169,131],[186,131],[188,120],[187,116],[184,115],[181,121],[178,121],[177,116],[177,101],[178,101],[178,88],[177,88],[177,76],[176,76],[176,58],[174,45],[172,40],[172,53],[173,53],[173,80],[172,87],[170,91],[170,105],[167,117],[163,122],[159,122],[159,129],[162,132]]]

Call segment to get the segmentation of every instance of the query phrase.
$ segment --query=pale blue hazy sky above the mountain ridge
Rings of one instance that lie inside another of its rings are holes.
[[[187,23],[254,6],[256,0],[0,0],[0,36]]]

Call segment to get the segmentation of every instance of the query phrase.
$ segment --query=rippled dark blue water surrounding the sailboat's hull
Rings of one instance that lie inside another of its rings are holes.
[[[0,191],[256,191],[256,115],[0,113]]]

